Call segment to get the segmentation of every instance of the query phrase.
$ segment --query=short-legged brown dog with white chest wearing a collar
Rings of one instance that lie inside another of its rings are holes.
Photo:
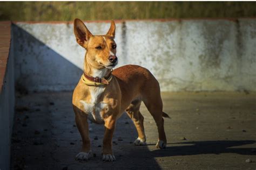
[[[104,124],[103,160],[113,161],[112,136],[117,119],[124,111],[132,118],[138,131],[135,145],[145,145],[144,117],[139,112],[143,101],[158,128],[156,147],[166,147],[163,112],[159,83],[146,68],[127,65],[114,69],[118,59],[114,34],[116,25],[111,22],[104,36],[93,36],[82,20],[75,19],[74,32],[77,43],[86,49],[84,74],[73,91],[73,110],[77,128],[83,139],[82,152],[77,160],[87,160],[91,156],[87,119]]]

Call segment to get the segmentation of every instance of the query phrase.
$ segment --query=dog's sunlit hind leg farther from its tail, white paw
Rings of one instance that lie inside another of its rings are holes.
[[[138,138],[134,141],[134,145],[145,145],[146,144],[146,136],[144,131],[144,117],[139,111],[140,104],[142,101],[139,99],[133,100],[129,107],[126,108],[127,115],[132,119],[137,132],[138,132]]]

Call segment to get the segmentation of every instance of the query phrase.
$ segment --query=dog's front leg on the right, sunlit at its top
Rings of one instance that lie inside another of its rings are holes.
[[[103,138],[103,160],[104,161],[114,161],[116,158],[112,152],[112,137],[114,133],[114,128],[116,126],[116,119],[113,116],[109,116],[105,121],[105,133]]]

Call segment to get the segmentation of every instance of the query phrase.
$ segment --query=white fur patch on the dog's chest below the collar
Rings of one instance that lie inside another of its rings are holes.
[[[108,104],[103,102],[98,102],[99,97],[102,95],[105,88],[96,87],[90,89],[91,101],[86,102],[80,100],[80,103],[84,105],[84,111],[88,114],[88,119],[94,123],[104,124],[103,115],[100,114],[103,110],[107,111]]]

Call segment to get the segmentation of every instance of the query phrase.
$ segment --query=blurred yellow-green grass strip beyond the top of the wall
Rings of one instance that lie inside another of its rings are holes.
[[[0,20],[255,17],[256,2],[0,2]]]

